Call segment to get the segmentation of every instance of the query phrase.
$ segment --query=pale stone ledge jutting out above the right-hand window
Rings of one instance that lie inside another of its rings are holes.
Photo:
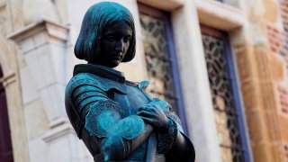
[[[211,0],[196,0],[200,23],[216,29],[231,31],[244,26],[245,14],[236,7]]]

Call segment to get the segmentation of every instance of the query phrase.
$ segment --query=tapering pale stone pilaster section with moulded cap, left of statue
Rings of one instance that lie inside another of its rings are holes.
[[[67,121],[64,106],[67,37],[66,27],[46,21],[31,24],[10,36],[23,51],[50,128]]]

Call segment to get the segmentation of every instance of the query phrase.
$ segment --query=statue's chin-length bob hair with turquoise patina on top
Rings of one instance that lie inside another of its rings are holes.
[[[136,46],[133,16],[126,7],[112,2],[94,4],[86,12],[74,49],[76,58],[85,59],[89,63],[100,57],[103,32],[109,23],[116,21],[127,23],[132,30],[130,47],[122,62],[133,59]]]

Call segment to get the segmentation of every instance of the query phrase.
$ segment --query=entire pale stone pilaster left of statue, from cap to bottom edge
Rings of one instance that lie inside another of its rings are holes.
[[[14,40],[26,66],[20,67],[31,162],[91,161],[67,120],[67,27],[40,21],[15,31]],[[72,73],[72,72],[70,72]]]

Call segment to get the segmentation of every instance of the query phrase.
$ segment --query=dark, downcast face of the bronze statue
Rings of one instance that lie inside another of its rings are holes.
[[[130,46],[132,30],[127,23],[117,21],[103,32],[100,55],[97,62],[105,67],[117,67]]]

